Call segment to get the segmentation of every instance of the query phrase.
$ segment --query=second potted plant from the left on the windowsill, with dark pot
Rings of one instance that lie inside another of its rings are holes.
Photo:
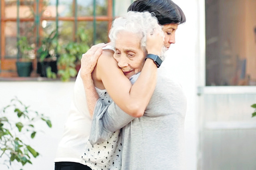
[[[53,30],[47,37],[41,40],[41,46],[36,51],[38,56],[37,73],[40,74],[41,77],[56,77],[58,72],[57,58],[59,56],[57,37],[58,34],[56,30]]]

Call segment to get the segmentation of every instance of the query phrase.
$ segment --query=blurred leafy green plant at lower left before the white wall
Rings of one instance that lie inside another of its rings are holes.
[[[0,164],[8,168],[16,162],[20,166],[32,164],[32,156],[39,153],[28,144],[27,137],[34,138],[37,131],[35,122],[46,122],[52,127],[50,119],[36,111],[29,110],[19,99],[14,98],[0,112]]]

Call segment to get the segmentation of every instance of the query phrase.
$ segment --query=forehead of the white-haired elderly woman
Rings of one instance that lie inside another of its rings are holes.
[[[120,31],[115,40],[116,49],[132,49],[134,51],[141,49],[141,36],[136,33]]]

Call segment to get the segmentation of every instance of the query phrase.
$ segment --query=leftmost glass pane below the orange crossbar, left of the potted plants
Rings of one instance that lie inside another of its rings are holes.
[[[5,23],[5,58],[17,58],[17,24]]]

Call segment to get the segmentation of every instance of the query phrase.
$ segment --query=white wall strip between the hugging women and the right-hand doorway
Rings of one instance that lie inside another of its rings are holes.
[[[174,1],[184,11],[186,23],[181,24],[176,31],[176,42],[168,50],[170,58],[166,64],[169,65],[169,73],[176,77],[184,88],[187,96],[187,113],[185,120],[186,138],[186,162],[188,170],[197,169],[197,103],[196,103],[196,66],[199,56],[197,47],[198,39],[198,1],[182,0]]]

